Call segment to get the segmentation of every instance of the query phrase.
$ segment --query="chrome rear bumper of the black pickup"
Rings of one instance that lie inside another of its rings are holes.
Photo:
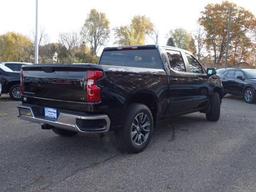
[[[75,132],[94,132],[102,133],[108,132],[110,128],[110,119],[107,115],[88,115],[88,114],[77,114],[76,112],[60,112],[57,119],[50,119],[44,117],[38,112],[38,106],[19,104],[17,106],[19,109],[19,118],[31,122],[36,122],[40,124],[48,124],[57,128],[62,128]],[[43,108],[43,107],[41,107]],[[77,120],[105,120],[106,126],[104,128],[94,129],[90,131],[83,131],[77,125]]]

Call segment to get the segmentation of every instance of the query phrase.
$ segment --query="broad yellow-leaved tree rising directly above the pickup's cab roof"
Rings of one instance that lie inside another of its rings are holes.
[[[146,16],[134,16],[131,24],[114,28],[115,44],[121,46],[143,45],[145,38],[154,30],[154,24]],[[157,33],[158,35],[158,33]]]

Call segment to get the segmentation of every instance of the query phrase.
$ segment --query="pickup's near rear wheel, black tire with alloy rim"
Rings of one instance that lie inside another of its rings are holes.
[[[150,109],[143,104],[130,104],[126,111],[123,127],[115,131],[121,150],[129,153],[142,152],[150,142],[153,127],[154,121]]]

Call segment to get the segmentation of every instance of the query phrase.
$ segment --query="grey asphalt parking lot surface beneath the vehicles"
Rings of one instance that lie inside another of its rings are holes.
[[[225,97],[218,122],[166,120],[146,150],[123,154],[114,134],[62,138],[17,117],[0,98],[0,191],[256,191],[256,105]]]

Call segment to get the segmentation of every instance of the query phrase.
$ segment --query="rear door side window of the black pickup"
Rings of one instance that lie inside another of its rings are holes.
[[[176,71],[186,72],[182,55],[179,51],[166,50],[170,66]]]

